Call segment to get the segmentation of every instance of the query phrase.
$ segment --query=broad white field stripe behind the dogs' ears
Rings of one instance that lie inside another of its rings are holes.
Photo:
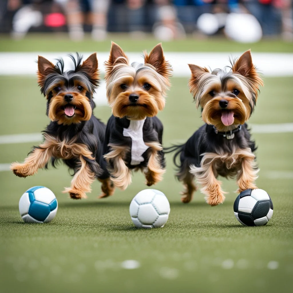
[[[92,52],[82,52],[88,57]],[[196,64],[211,69],[223,68],[229,65],[229,57],[238,57],[243,52],[166,52],[166,59],[173,67],[173,76],[189,77],[188,63]],[[2,52],[0,53],[0,75],[35,75],[37,71],[38,55],[56,63],[56,58],[63,57],[65,69],[72,68],[72,62],[65,52]],[[142,52],[127,53],[130,62],[143,62]],[[104,62],[109,57],[109,52],[97,53],[100,72],[104,73]],[[293,76],[293,53],[261,53],[252,52],[253,63],[264,76]],[[282,66],[280,66],[282,64]]]

